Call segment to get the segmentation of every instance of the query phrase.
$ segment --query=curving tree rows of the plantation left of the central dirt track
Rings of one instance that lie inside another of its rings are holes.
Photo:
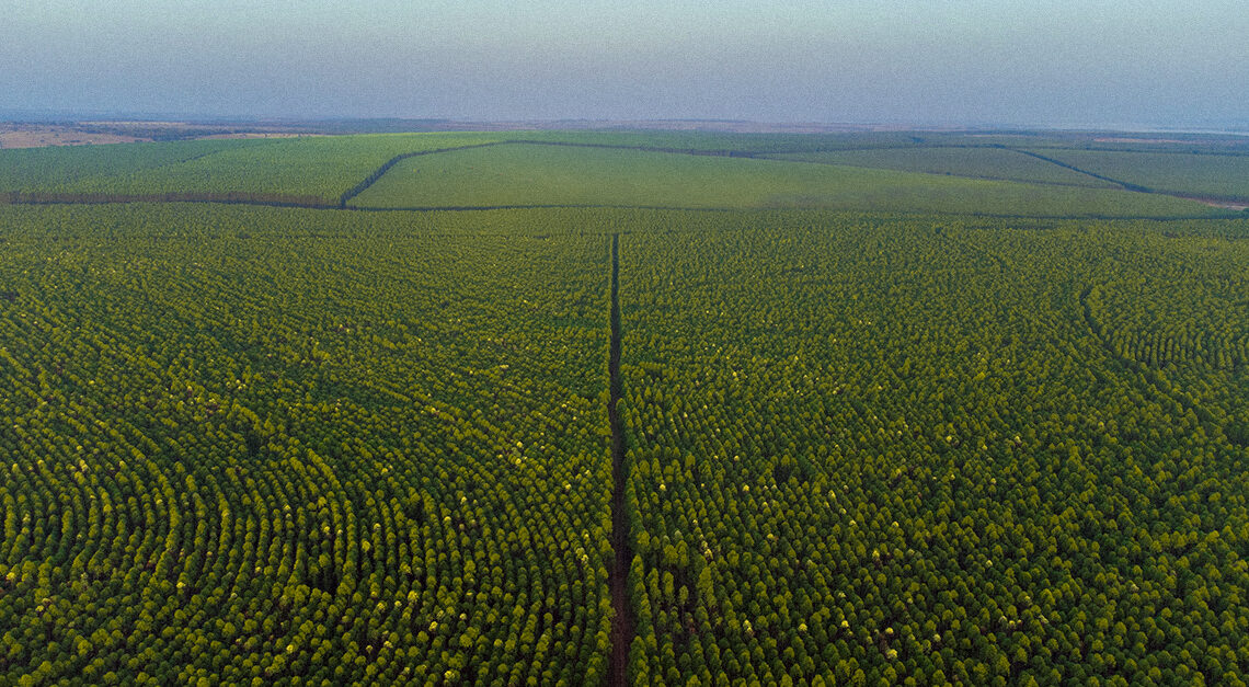
[[[607,241],[535,220],[2,210],[0,682],[603,675]]]

